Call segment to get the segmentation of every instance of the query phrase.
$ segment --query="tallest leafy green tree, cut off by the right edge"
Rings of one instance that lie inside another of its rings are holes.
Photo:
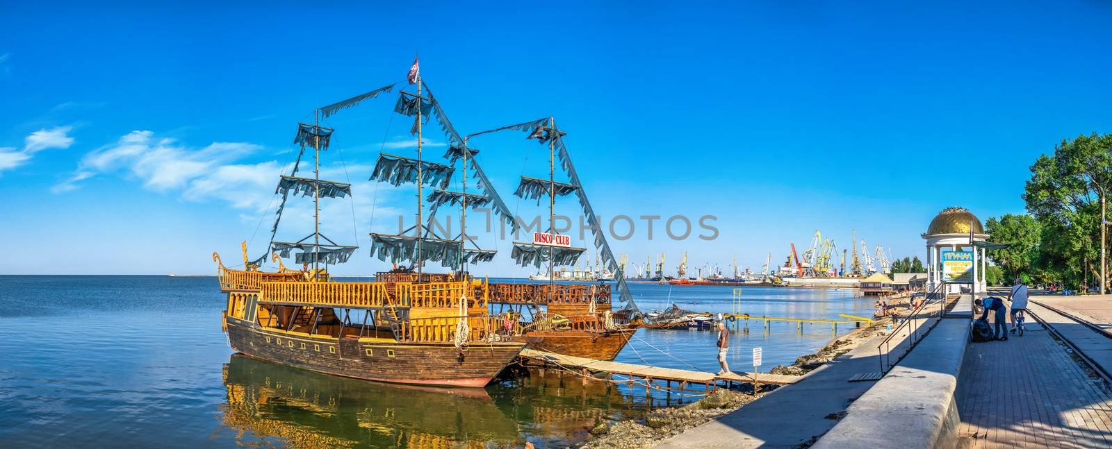
[[[1034,279],[1079,286],[1086,270],[1100,272],[1101,203],[1110,190],[1112,134],[1063,140],[1035,160],[1023,194],[1043,231]]]

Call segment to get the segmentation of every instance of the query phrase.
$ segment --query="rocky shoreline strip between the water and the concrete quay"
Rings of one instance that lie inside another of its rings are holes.
[[[861,343],[882,332],[891,320],[875,320],[870,326],[854,329],[844,337],[836,338],[818,352],[795,359],[790,366],[778,366],[770,372],[774,375],[805,375],[824,363],[834,360]],[[746,385],[748,388],[752,386]],[[652,410],[644,419],[631,419],[614,423],[599,422],[592,429],[592,439],[584,442],[580,449],[641,449],[652,447],[665,439],[682,433],[684,430],[699,426],[719,416],[744,407],[767,395],[775,386],[762,386],[756,395],[719,389],[696,402],[679,407],[667,407]]]

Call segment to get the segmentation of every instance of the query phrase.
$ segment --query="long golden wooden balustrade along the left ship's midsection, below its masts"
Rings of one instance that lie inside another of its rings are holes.
[[[259,300],[326,307],[391,306],[390,295],[381,282],[262,282]]]

